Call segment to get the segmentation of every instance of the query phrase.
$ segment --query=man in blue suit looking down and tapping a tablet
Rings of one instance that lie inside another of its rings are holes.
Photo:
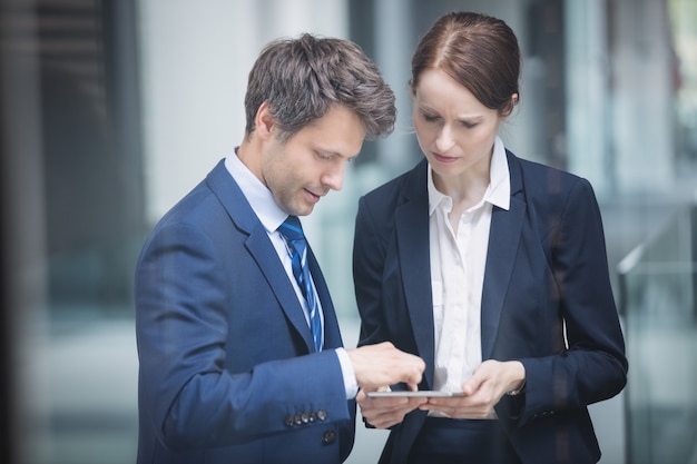
[[[300,223],[285,225],[342,187],[364,138],[392,130],[376,67],[348,41],[276,41],[245,107],[242,145],[138,260],[138,463],[338,463],[359,387],[421,381],[423,362],[391,344],[342,348]]]

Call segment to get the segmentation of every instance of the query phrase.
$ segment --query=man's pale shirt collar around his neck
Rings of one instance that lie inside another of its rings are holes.
[[[249,206],[256,213],[266,231],[271,234],[281,226],[288,215],[281,209],[268,187],[237,157],[237,148],[228,154],[225,159],[225,167],[249,201]]]

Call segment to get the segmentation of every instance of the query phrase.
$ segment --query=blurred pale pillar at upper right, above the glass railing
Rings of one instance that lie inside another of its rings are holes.
[[[619,192],[662,192],[673,186],[673,57],[665,1],[616,0],[612,124]]]

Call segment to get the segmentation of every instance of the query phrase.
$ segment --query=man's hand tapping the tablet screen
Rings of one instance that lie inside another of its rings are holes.
[[[418,356],[404,353],[390,342],[347,349],[359,386],[374,391],[385,385],[405,383],[416,389],[426,365]]]

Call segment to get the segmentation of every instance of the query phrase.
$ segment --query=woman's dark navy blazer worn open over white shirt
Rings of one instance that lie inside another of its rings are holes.
[[[491,218],[482,357],[521,361],[527,386],[497,414],[523,463],[595,463],[586,406],[627,378],[600,211],[587,180],[507,157],[511,204]],[[361,198],[354,241],[360,345],[391,340],[421,356],[423,389],[433,386],[434,357],[426,169],[423,160]],[[408,461],[424,418],[415,411],[393,427],[382,463]]]

